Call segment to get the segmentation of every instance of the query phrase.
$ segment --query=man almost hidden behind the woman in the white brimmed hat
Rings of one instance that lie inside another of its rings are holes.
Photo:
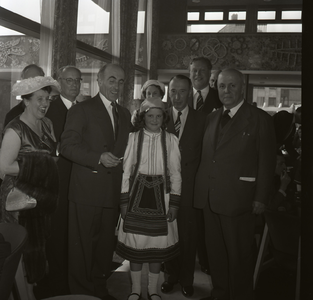
[[[26,66],[21,72],[21,79],[32,78],[36,76],[45,76],[43,69],[35,64]],[[25,104],[21,101],[19,104],[11,108],[11,110],[5,115],[3,128],[8,125],[8,123],[15,117],[19,116],[24,112]]]

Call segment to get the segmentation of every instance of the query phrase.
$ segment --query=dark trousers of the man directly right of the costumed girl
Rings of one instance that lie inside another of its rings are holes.
[[[181,286],[193,285],[197,251],[197,218],[202,212],[192,207],[180,207],[177,217],[180,255],[165,263],[166,280]]]

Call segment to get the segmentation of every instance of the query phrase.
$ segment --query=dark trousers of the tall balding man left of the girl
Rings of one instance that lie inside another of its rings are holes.
[[[117,208],[69,204],[69,286],[72,294],[103,298],[115,249]]]

